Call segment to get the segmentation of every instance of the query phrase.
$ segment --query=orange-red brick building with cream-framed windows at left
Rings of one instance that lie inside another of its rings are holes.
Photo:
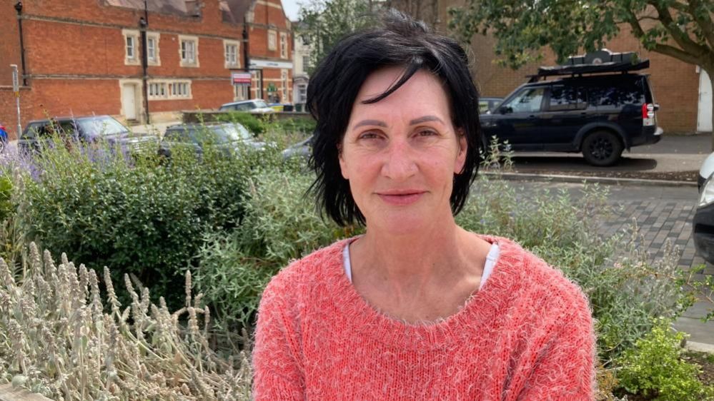
[[[147,11],[143,0],[25,0],[19,14],[16,3],[0,3],[0,121],[11,131],[9,64],[23,78],[23,126],[92,113],[146,121],[147,107],[162,121],[235,99],[291,96],[292,36],[279,0],[147,0]],[[251,87],[234,86],[231,73],[245,70],[246,57]]]

